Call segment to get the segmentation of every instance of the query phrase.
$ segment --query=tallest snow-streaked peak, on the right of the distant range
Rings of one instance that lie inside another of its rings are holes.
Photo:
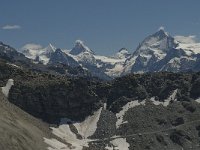
[[[176,46],[174,38],[165,32],[164,28],[160,28],[139,44],[132,56],[126,60],[124,72],[146,72],[148,66],[164,59]]]

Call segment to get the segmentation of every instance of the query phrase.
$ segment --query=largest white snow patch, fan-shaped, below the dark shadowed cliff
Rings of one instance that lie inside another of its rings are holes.
[[[88,143],[94,140],[89,139],[88,137],[93,135],[97,129],[97,122],[101,114],[102,108],[97,110],[92,116],[88,116],[83,122],[77,123],[72,122],[69,119],[61,119],[60,125],[58,128],[51,127],[52,133],[57,137],[61,138],[68,145],[59,142],[56,139],[46,139],[44,142],[48,144],[49,150],[82,150],[83,147],[88,147]],[[74,125],[78,131],[78,134],[82,136],[83,139],[78,139],[76,134],[73,133],[70,129],[69,122]]]

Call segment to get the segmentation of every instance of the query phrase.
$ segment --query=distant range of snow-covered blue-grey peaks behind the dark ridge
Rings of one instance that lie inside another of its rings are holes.
[[[200,43],[193,38],[172,37],[164,29],[159,29],[146,37],[133,53],[122,48],[113,56],[102,56],[80,40],[70,50],[49,44],[45,48],[25,45],[19,52],[34,63],[79,66],[93,76],[109,79],[129,73],[199,71]]]

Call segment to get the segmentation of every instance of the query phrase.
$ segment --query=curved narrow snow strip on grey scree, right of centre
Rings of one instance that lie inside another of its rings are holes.
[[[135,100],[135,101],[128,102],[126,105],[124,105],[122,107],[122,110],[116,114],[116,117],[117,117],[116,128],[119,128],[120,125],[127,123],[127,122],[123,122],[123,116],[130,108],[133,108],[139,105],[145,105],[145,101],[139,102],[138,100]]]

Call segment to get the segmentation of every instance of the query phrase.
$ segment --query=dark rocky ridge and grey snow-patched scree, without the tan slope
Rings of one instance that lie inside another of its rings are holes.
[[[199,149],[199,73],[102,82],[6,64],[0,69],[2,87],[14,81],[8,100],[51,124],[55,137],[42,141],[48,149]]]

